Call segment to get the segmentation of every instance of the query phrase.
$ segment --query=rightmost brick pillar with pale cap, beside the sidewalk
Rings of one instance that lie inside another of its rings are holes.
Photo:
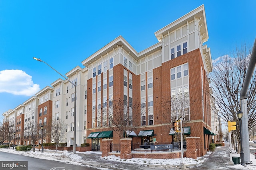
[[[187,153],[186,153],[186,157],[187,158],[193,158],[196,159],[197,155],[198,155],[198,150],[197,150],[197,146],[196,143],[198,141],[200,137],[186,137],[187,140]]]

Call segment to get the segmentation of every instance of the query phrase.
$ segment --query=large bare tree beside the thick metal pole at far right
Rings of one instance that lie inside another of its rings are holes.
[[[250,61],[251,47],[246,44],[236,47],[229,55],[219,57],[213,63],[214,70],[210,74],[211,86],[216,105],[219,107],[219,116],[224,121],[236,121],[236,136],[239,139],[239,121],[236,113],[241,110],[240,90],[244,84],[246,69]],[[248,129],[256,123],[256,71],[252,76],[248,88],[247,110],[248,110]],[[240,142],[240,141],[239,141]],[[239,151],[240,152],[240,151]]]

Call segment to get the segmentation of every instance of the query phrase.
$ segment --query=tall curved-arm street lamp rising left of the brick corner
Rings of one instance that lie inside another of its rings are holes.
[[[45,64],[47,64],[46,62],[42,61],[41,59],[37,59],[36,57],[33,57],[33,59],[43,62]],[[52,66],[50,66],[49,64],[47,64],[50,68],[52,68]],[[54,68],[52,68],[54,71],[56,71],[58,74],[60,74],[57,70],[55,70]],[[62,74],[60,74],[62,77],[64,77],[66,80],[68,80],[65,76],[63,76]],[[74,102],[74,141],[73,141],[73,153],[76,154],[76,82],[73,83],[70,80],[68,80],[68,82],[70,82],[73,86],[75,86],[75,102]]]

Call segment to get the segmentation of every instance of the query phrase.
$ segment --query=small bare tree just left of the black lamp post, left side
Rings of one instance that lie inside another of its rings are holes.
[[[40,131],[40,127],[36,125],[34,121],[28,121],[25,124],[24,136],[27,136],[32,141],[33,152],[35,152],[36,141],[41,137]]]

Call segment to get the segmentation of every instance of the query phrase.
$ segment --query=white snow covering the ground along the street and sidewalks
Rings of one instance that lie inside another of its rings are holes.
[[[78,154],[73,154],[73,152],[68,152],[68,151],[60,151],[58,150],[57,153],[55,153],[55,151],[50,151],[50,150],[46,150],[46,152],[39,152],[38,150],[36,150],[36,152],[28,151],[28,152],[21,152],[21,151],[16,151],[13,149],[0,149],[0,151],[2,152],[10,152],[10,153],[14,153],[14,154],[20,154],[20,155],[25,155],[25,156],[31,156],[31,157],[35,157],[35,158],[40,158],[40,159],[47,159],[47,160],[55,160],[55,161],[59,161],[59,162],[66,162],[69,164],[74,164],[74,165],[83,165],[82,162],[84,162],[85,160],[83,160],[82,156],[79,155],[79,153],[86,153],[86,154],[98,154],[98,156],[101,155],[101,152],[78,152]],[[204,155],[204,157],[209,156],[211,154],[211,152],[207,152],[206,155]],[[240,156],[239,154],[236,154],[234,150],[232,150],[232,156]],[[105,160],[112,160],[112,161],[116,161],[116,162],[122,162],[122,163],[130,163],[130,164],[153,164],[153,165],[166,165],[166,166],[177,166],[181,163],[181,158],[178,159],[147,159],[147,158],[132,158],[132,159],[127,159],[127,160],[123,160],[120,159],[120,157],[116,157],[116,156],[106,156],[103,157],[101,159],[105,159]],[[192,159],[192,158],[184,158],[183,163],[186,165],[191,165],[191,166],[196,166],[199,164],[202,164],[204,162],[204,160],[207,158],[203,158],[203,157],[198,157],[196,160]],[[236,164],[234,166],[232,166],[233,169],[239,169],[239,170],[255,170],[256,166],[256,159],[255,156],[253,154],[251,154],[251,161],[252,161],[252,165],[247,165],[246,167],[240,165],[240,164]],[[228,164],[228,162],[227,162]],[[100,168],[102,169],[102,168]]]

